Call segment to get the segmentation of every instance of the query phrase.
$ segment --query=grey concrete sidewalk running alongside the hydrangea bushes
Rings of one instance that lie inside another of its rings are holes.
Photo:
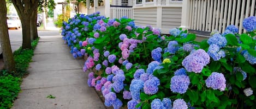
[[[94,89],[87,85],[88,73],[82,71],[82,60],[73,58],[61,36],[42,37],[32,60],[13,108],[105,108]],[[56,98],[46,98],[48,95]]]

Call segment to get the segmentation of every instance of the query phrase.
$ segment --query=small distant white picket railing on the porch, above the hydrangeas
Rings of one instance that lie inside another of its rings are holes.
[[[110,6],[110,19],[121,18],[127,16],[128,18],[133,18],[132,7],[122,7],[122,6]]]

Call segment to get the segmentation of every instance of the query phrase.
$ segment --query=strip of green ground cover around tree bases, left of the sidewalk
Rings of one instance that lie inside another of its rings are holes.
[[[34,40],[32,49],[17,49],[14,52],[15,68],[18,75],[10,75],[7,70],[0,70],[0,108],[11,108],[13,101],[20,92],[22,77],[27,74],[29,62],[32,61],[35,46],[38,40]]]

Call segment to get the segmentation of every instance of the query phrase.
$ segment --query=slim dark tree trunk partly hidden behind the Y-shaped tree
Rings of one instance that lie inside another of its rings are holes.
[[[37,33],[37,10],[34,10],[31,15],[31,21],[30,21],[30,33],[31,33],[31,40],[35,40],[38,38]]]

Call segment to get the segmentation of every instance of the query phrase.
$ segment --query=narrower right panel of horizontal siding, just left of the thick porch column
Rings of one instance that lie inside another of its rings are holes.
[[[181,7],[163,7],[162,28],[178,28],[181,25]]]

